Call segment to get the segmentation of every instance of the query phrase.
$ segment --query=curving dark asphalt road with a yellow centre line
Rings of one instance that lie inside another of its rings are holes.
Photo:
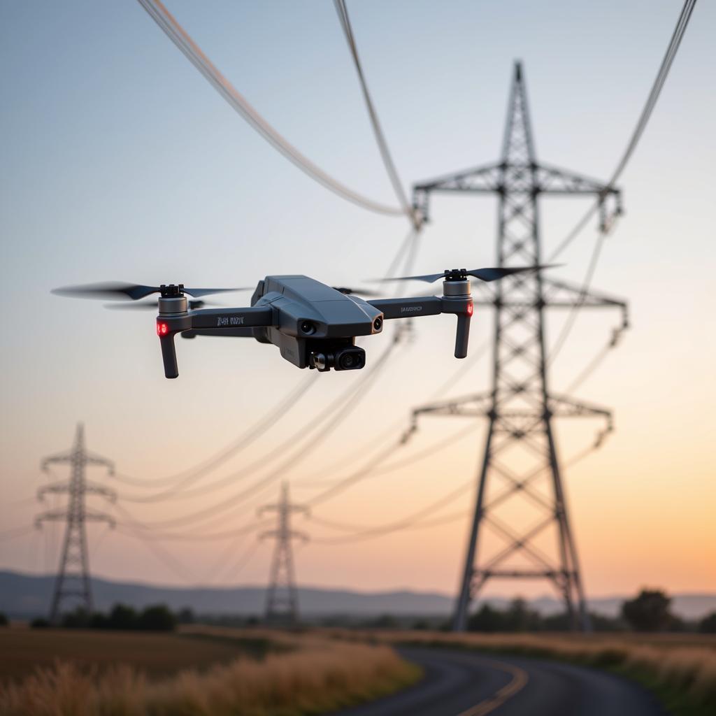
[[[425,678],[338,716],[665,716],[637,684],[606,672],[522,657],[400,649]]]

